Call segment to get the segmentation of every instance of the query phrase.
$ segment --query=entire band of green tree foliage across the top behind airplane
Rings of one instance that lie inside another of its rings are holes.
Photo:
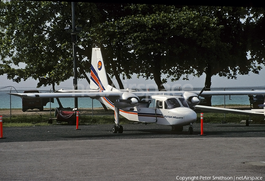
[[[72,42],[63,30],[72,25],[71,3],[0,2],[0,75],[33,78],[38,87],[72,77]],[[111,77],[136,73],[161,89],[168,79],[236,78],[265,64],[264,8],[78,2],[75,12],[76,26],[83,27],[77,58],[85,72],[95,46],[102,47]]]

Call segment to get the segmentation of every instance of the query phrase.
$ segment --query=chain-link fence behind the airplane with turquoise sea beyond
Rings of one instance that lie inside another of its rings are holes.
[[[265,87],[229,87],[229,88],[211,88],[211,90],[264,90]],[[157,91],[157,89],[135,89],[137,91]],[[168,91],[200,91],[202,88],[174,88],[167,89]],[[74,108],[74,98],[34,98],[24,99],[17,96],[11,96],[7,93],[28,93],[28,92],[52,92],[49,89],[23,89],[16,90],[13,87],[0,89],[0,115],[3,119],[10,121],[23,122],[38,122],[49,119],[54,119],[56,108],[63,111],[72,111]],[[255,105],[263,104],[264,96],[259,99],[248,95],[233,95],[233,96],[212,96],[210,99],[211,106],[222,108],[237,108],[250,109],[256,108]],[[252,103],[251,103],[252,100]],[[202,105],[208,105],[207,98],[201,97]],[[110,108],[104,108],[96,99],[78,98],[78,111],[81,119],[104,118],[114,120],[114,111]],[[198,112],[199,113],[199,112]],[[207,113],[212,119],[213,114]],[[226,118],[226,114],[218,114],[219,117]],[[235,116],[235,115],[234,115]],[[238,115],[237,115],[238,116]],[[260,118],[261,120],[263,118]]]

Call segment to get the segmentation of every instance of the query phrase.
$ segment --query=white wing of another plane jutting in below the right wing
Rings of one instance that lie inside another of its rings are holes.
[[[249,116],[265,117],[264,109],[238,110],[238,109],[217,108],[217,107],[201,106],[201,105],[196,105],[194,107],[202,111],[209,111],[214,113],[234,113],[234,114],[243,114]]]

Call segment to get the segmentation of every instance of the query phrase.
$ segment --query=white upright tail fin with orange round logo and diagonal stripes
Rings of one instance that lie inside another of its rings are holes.
[[[109,85],[100,48],[92,48],[90,88],[106,90]]]

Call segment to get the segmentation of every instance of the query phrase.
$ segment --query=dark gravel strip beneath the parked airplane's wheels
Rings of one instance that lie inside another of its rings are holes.
[[[157,124],[125,124],[122,134],[112,134],[112,124],[50,125],[31,127],[4,127],[6,139],[1,142],[21,141],[56,141],[56,140],[86,140],[86,139],[138,139],[138,138],[194,138],[201,134],[201,124],[193,124],[193,135],[188,135],[188,126],[182,132],[171,131],[170,126]],[[207,137],[265,137],[265,124],[203,124],[203,134]]]

